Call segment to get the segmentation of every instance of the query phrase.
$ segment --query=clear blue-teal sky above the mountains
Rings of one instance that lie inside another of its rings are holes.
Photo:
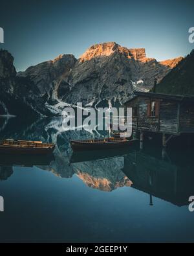
[[[91,45],[115,41],[146,49],[147,57],[186,56],[194,27],[194,1],[0,0],[0,47],[14,56],[17,71],[59,54],[79,58]]]

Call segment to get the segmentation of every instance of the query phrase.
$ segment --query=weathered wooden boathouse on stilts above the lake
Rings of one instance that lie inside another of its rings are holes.
[[[133,108],[133,132],[163,135],[163,146],[174,135],[194,134],[194,97],[136,92],[125,102]],[[169,135],[169,136],[168,136]]]

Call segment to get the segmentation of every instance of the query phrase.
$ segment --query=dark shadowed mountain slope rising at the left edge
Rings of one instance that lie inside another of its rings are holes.
[[[27,78],[17,77],[14,58],[8,51],[0,51],[0,115],[25,116],[51,115],[40,91]]]

